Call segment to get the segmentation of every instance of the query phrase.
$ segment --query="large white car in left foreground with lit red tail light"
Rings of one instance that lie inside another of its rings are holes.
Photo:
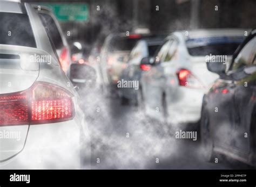
[[[0,2],[0,169],[90,168],[79,96],[38,13]]]

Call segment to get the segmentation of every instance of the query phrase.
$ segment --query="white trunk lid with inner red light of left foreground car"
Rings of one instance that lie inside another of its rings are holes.
[[[37,80],[39,63],[32,58],[41,55],[32,51],[30,47],[0,45],[0,162],[15,156],[25,146],[29,131],[26,111],[30,109],[28,95],[23,93],[28,93],[25,90]]]

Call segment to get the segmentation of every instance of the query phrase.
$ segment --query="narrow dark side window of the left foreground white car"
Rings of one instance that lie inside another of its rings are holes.
[[[39,13],[39,16],[42,20],[45,29],[48,29],[48,35],[51,38],[55,48],[62,49],[64,47],[62,37],[53,18],[46,13]]]

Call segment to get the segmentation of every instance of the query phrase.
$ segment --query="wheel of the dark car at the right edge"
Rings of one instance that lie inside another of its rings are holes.
[[[201,147],[203,148],[204,160],[209,162],[213,159],[213,140],[210,133],[209,116],[206,111],[202,109],[201,123]]]

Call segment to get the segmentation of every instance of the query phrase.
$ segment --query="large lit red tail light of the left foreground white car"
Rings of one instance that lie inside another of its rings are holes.
[[[0,126],[55,123],[74,116],[71,93],[50,83],[0,95]]]

